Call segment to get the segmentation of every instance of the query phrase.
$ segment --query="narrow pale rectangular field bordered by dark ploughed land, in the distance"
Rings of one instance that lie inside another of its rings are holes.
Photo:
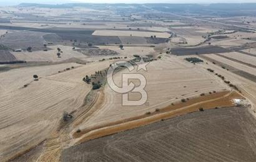
[[[95,30],[92,35],[101,36],[135,36],[135,37],[150,37],[155,35],[157,38],[169,38],[170,34],[166,32],[140,32],[129,30]]]

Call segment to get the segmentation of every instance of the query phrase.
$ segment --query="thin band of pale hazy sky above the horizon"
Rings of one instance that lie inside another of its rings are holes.
[[[72,2],[92,2],[92,3],[214,3],[214,2],[255,2],[256,0],[0,0],[0,5],[19,4],[21,2],[33,2],[44,4],[63,4]]]

